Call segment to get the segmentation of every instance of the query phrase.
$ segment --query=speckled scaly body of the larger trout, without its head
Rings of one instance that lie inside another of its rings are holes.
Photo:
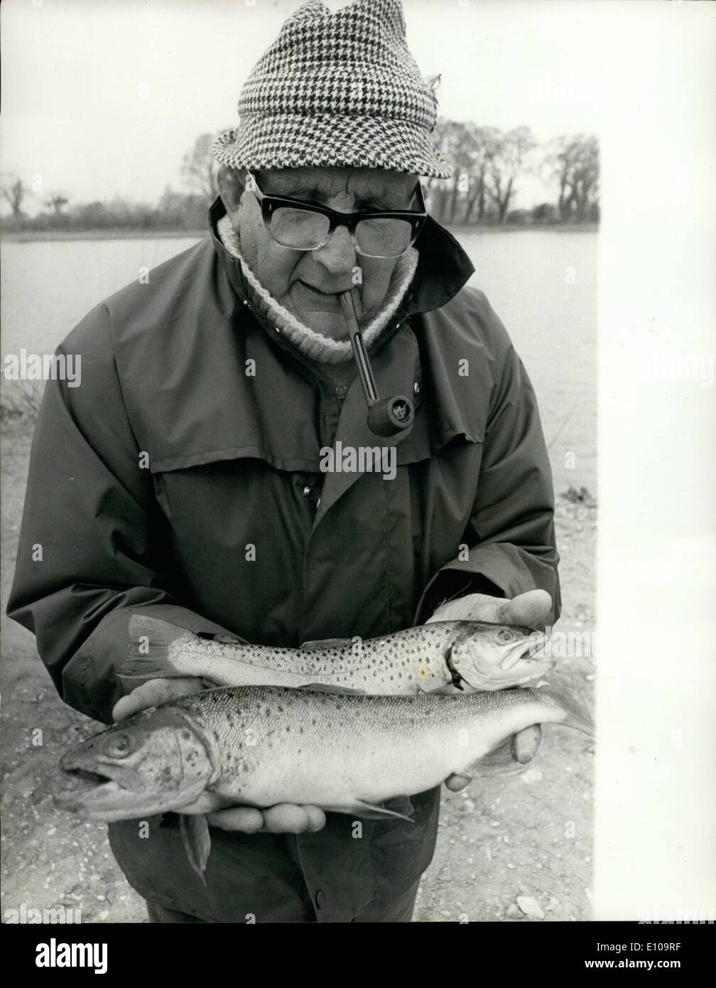
[[[174,705],[174,704],[173,704]],[[273,687],[182,698],[220,753],[213,791],[271,806],[380,803],[465,771],[506,737],[564,710],[543,691],[342,697]]]

